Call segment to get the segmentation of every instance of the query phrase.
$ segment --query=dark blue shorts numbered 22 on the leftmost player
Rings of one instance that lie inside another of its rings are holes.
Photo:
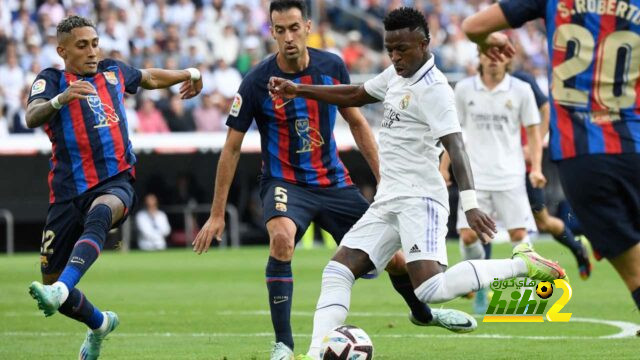
[[[115,228],[127,219],[137,200],[133,177],[128,172],[105,180],[72,200],[49,205],[40,246],[43,274],[55,274],[64,269],[73,246],[84,231],[84,221],[91,204],[98,196],[106,194],[117,196],[125,206],[124,216],[114,224]]]

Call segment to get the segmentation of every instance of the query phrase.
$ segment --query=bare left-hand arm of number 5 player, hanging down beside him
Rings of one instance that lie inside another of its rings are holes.
[[[227,206],[227,197],[229,196],[229,188],[233,181],[233,176],[238,167],[240,159],[240,149],[242,148],[242,140],[244,133],[229,128],[227,132],[227,140],[222,148],[220,160],[218,160],[218,169],[216,170],[216,184],[213,192],[213,203],[211,204],[211,214],[204,224],[195,240],[193,240],[193,251],[202,254],[211,246],[211,241],[215,238],[218,242],[222,241],[222,232],[224,231],[224,214]]]

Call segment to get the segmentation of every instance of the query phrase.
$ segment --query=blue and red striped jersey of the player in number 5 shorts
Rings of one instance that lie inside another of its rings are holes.
[[[337,107],[303,98],[273,101],[269,96],[271,76],[303,84],[350,83],[338,56],[312,48],[309,56],[309,66],[297,74],[282,72],[275,55],[258,64],[242,81],[227,125],[246,132],[255,119],[261,138],[263,178],[315,187],[353,185],[333,137]]]

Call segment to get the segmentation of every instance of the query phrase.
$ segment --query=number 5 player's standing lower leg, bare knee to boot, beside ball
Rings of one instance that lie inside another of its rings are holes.
[[[293,357],[291,304],[293,301],[293,273],[291,259],[295,247],[297,227],[287,217],[275,217],[267,222],[269,232],[269,260],[265,271],[271,323],[275,331],[272,359]]]

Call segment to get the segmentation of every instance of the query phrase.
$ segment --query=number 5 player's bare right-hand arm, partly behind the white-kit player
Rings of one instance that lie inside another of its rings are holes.
[[[380,182],[380,161],[378,158],[378,145],[376,145],[376,139],[373,136],[373,131],[365,119],[364,115],[357,108],[341,108],[340,114],[344,117],[345,121],[349,123],[349,129],[353,135],[353,139],[358,145],[358,149],[362,156],[369,164],[373,176],[376,178],[376,182]]]

